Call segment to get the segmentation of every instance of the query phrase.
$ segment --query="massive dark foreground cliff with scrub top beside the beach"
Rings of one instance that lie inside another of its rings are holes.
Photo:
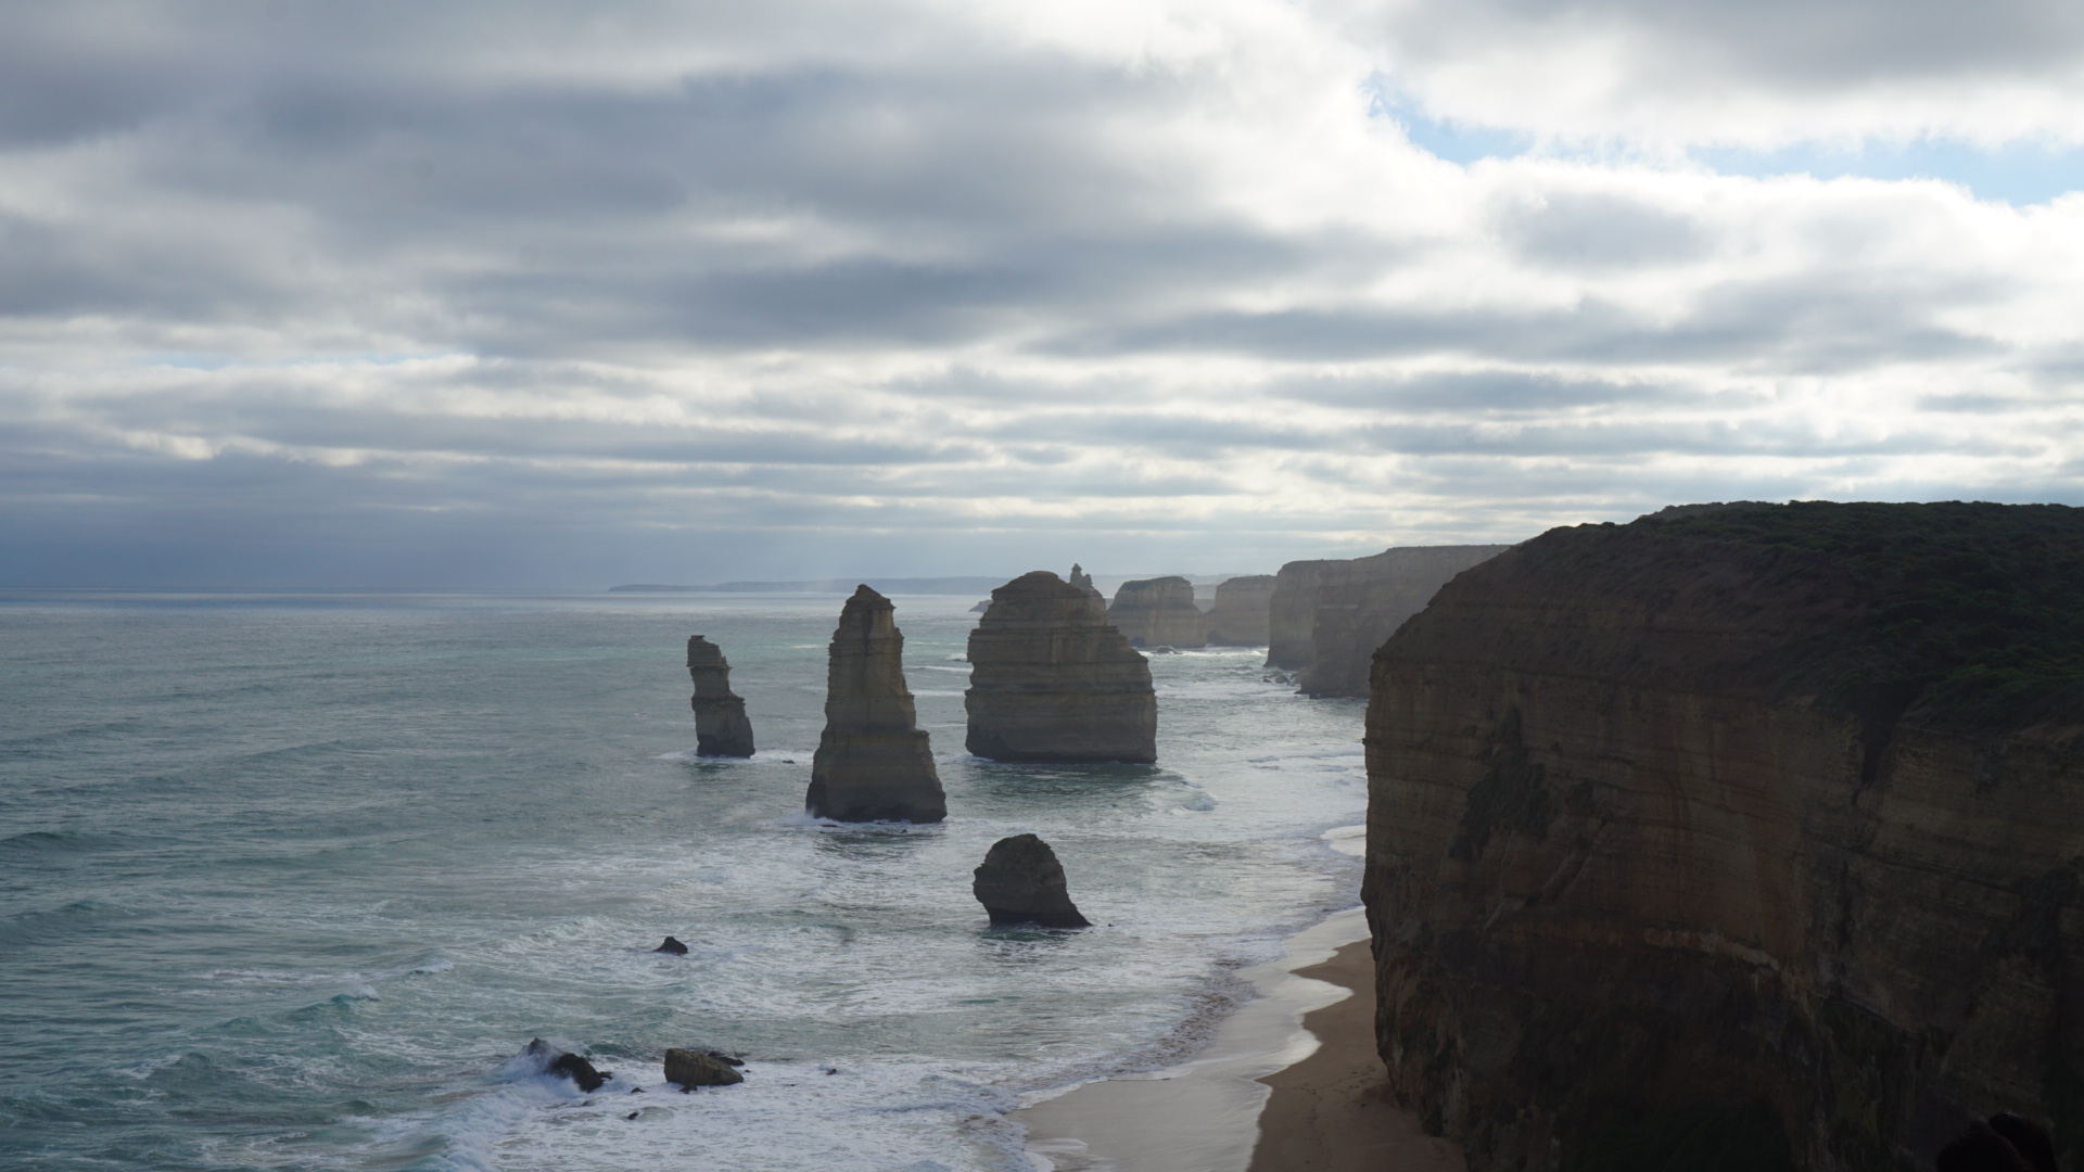
[[[1469,1168],[2084,1141],[2084,511],[1553,530],[1375,657],[1378,1045]]]

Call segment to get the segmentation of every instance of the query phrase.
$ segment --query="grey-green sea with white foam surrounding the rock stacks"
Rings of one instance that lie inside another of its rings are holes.
[[[1357,701],[1161,653],[1157,765],[977,761],[973,599],[894,599],[948,820],[807,820],[840,603],[0,594],[0,1166],[1025,1170],[1023,1097],[1190,1055],[1355,903]],[[694,757],[690,634],[750,761]],[[986,924],[1021,832],[1094,928]]]

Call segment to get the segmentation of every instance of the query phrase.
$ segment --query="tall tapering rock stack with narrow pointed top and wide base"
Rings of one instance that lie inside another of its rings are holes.
[[[904,686],[890,599],[861,586],[840,611],[825,674],[825,736],[804,809],[834,822],[940,822],[948,799]]]

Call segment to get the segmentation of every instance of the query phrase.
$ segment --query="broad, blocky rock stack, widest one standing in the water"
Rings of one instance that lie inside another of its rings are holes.
[[[992,590],[969,632],[969,738],[992,761],[1157,759],[1150,663],[1046,569]]]

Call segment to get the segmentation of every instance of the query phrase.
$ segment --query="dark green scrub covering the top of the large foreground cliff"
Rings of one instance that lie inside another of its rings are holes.
[[[1788,682],[1861,715],[2019,728],[2084,711],[2084,509],[1744,503],[1630,528],[1798,551],[1853,576],[1861,621],[1805,649]]]

